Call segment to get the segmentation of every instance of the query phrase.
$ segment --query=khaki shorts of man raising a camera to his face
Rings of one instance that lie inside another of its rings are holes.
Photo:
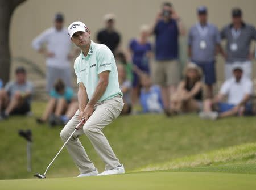
[[[155,85],[168,87],[180,81],[179,62],[177,60],[155,61],[151,64]]]

